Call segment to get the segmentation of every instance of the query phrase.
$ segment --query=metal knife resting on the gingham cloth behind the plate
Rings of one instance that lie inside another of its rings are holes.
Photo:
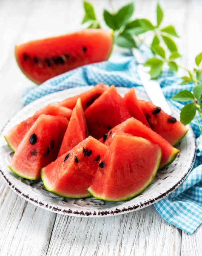
[[[139,75],[140,80],[142,81],[142,85],[145,88],[145,91],[154,105],[160,107],[165,113],[171,115],[172,111],[168,105],[168,102],[163,95],[161,87],[156,80],[151,80],[151,76],[149,75],[148,71],[150,70],[149,67],[144,67],[143,63],[145,63],[145,58],[142,53],[136,49],[132,49],[133,55],[138,63],[137,65],[137,73]]]

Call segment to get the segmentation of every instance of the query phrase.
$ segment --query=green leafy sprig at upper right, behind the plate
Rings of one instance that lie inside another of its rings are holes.
[[[94,12],[91,3],[83,2],[85,16],[82,23],[86,23],[88,28],[101,28],[100,22]],[[140,44],[145,44],[154,53],[154,57],[145,62],[145,66],[150,67],[151,79],[156,79],[161,75],[164,65],[168,65],[171,71],[177,72],[179,68],[184,69],[188,75],[182,77],[181,84],[194,83],[193,91],[182,90],[171,99],[176,101],[191,101],[182,108],[180,121],[187,125],[193,118],[196,118],[199,125],[196,112],[202,117],[202,52],[196,56],[196,68],[188,70],[177,63],[177,59],[182,57],[178,52],[175,38],[179,38],[173,25],[162,27],[164,12],[159,3],[156,5],[156,24],[153,24],[147,18],[132,19],[134,14],[134,3],[128,3],[122,6],[117,12],[103,11],[103,19],[106,25],[114,30],[114,42],[119,47],[138,48]],[[141,38],[149,34],[150,44],[146,44]]]

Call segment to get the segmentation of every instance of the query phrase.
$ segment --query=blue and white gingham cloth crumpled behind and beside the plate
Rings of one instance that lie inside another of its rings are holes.
[[[122,87],[136,87],[144,90],[136,71],[137,63],[131,53],[113,55],[109,61],[91,64],[54,77],[31,90],[26,90],[23,103],[26,105],[49,93],[71,87],[95,85],[100,82]],[[180,90],[191,90],[193,84],[180,85],[173,73],[165,71],[159,78],[162,91],[167,99]],[[173,105],[181,109],[182,102]],[[200,125],[202,125],[202,120]],[[200,131],[196,121],[191,126],[199,137]],[[185,181],[170,195],[155,204],[156,210],[169,223],[192,234],[202,224],[202,138],[197,149],[194,169]]]

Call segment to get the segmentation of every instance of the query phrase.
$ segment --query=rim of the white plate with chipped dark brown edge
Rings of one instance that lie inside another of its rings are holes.
[[[88,87],[89,89],[93,86],[84,86],[85,89]],[[65,89],[63,90],[63,92],[65,91],[69,91],[71,89],[74,89],[76,90],[77,88],[78,89],[83,89],[84,87],[73,87],[73,88],[69,88],[69,89]],[[123,89],[130,89],[130,88],[126,88],[126,87],[117,87],[117,88],[123,88]],[[136,89],[138,90],[138,89]],[[59,91],[61,92],[61,91]],[[59,92],[54,92],[54,93],[51,93],[51,94],[48,94],[46,96],[43,96],[37,100],[35,100],[34,102],[31,102],[30,104],[26,105],[26,106],[23,106],[20,111],[32,104],[36,104],[37,101],[40,102],[41,99],[45,99],[47,98],[48,99],[48,96],[50,95],[54,95],[54,94],[57,94]],[[142,94],[146,94],[145,92],[141,91],[141,90],[138,90],[139,93],[142,93]],[[176,112],[179,112],[179,110],[171,105],[172,108],[174,108],[176,110]],[[19,111],[17,111],[17,113],[19,113]],[[0,137],[3,136],[3,131],[4,129],[6,128],[6,126],[9,124],[9,122],[11,122],[11,119],[14,118],[15,115],[17,115],[17,113],[14,113],[14,115],[8,120],[8,122],[6,122],[6,124],[3,126],[2,130],[0,131]],[[59,207],[51,207],[49,206],[48,204],[44,204],[43,202],[40,202],[38,200],[34,200],[34,198],[31,198],[29,197],[29,195],[25,195],[24,193],[22,193],[20,191],[20,189],[17,188],[17,186],[15,186],[11,180],[9,180],[8,177],[6,177],[6,174],[3,172],[3,169],[1,167],[1,164],[0,164],[0,174],[2,175],[3,177],[3,180],[5,180],[6,184],[17,194],[19,195],[21,198],[25,199],[26,201],[42,208],[42,209],[46,209],[48,211],[51,211],[51,212],[55,212],[55,213],[60,213],[60,214],[63,214],[63,215],[69,215],[69,216],[77,216],[77,217],[106,217],[106,216],[111,216],[111,215],[120,215],[120,214],[124,214],[124,213],[128,213],[128,212],[133,212],[133,211],[136,211],[138,209],[143,209],[145,207],[148,207],[149,205],[151,204],[154,204],[156,203],[157,201],[161,200],[162,198],[165,198],[167,195],[169,195],[171,192],[173,192],[184,180],[185,178],[188,176],[188,174],[191,172],[191,169],[193,167],[193,164],[194,164],[194,161],[196,159],[196,137],[193,133],[193,129],[191,128],[191,125],[188,125],[188,128],[190,130],[190,132],[192,133],[192,137],[194,138],[194,145],[195,145],[195,148],[194,148],[194,152],[193,152],[193,157],[192,157],[192,160],[191,160],[191,164],[188,168],[188,171],[185,173],[185,175],[174,185],[172,186],[170,189],[168,189],[166,192],[162,193],[161,195],[151,199],[151,200],[148,200],[142,204],[139,204],[139,205],[132,205],[131,206],[128,206],[128,208],[121,208],[121,209],[118,209],[116,208],[114,211],[113,210],[105,210],[105,211],[99,211],[99,212],[93,212],[93,211],[86,211],[86,212],[83,212],[83,211],[73,211],[71,209],[68,209],[68,210],[62,210],[60,209]]]

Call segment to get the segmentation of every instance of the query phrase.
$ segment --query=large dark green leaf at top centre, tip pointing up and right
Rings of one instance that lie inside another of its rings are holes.
[[[116,20],[117,20],[117,29],[120,29],[120,27],[126,23],[134,12],[134,3],[129,3],[125,6],[123,6],[116,14]]]

